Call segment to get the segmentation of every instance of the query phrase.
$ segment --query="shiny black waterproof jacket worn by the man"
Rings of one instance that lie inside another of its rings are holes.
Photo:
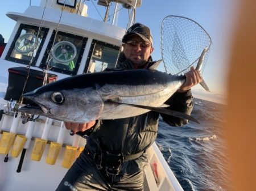
[[[119,60],[122,60],[122,56]],[[153,63],[150,57],[147,67],[150,67]],[[134,69],[133,63],[125,60],[119,62],[116,69],[108,69],[107,71],[129,69]],[[172,110],[190,114],[193,108],[191,91],[176,92],[166,101],[166,104],[170,105]],[[171,126],[182,126],[188,123],[188,120],[166,114],[161,114],[161,116]],[[102,150],[113,154],[137,154],[145,151],[154,143],[158,132],[158,118],[159,113],[151,111],[135,117],[98,121],[93,130],[90,130],[89,141],[94,142],[95,146],[100,145]],[[133,162],[126,162],[122,170],[126,173],[134,173],[142,168],[142,163],[145,163],[146,160],[146,156],[143,155]]]

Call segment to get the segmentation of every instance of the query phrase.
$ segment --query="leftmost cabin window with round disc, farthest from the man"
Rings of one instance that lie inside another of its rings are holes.
[[[20,24],[6,60],[34,66],[48,31],[48,28]]]

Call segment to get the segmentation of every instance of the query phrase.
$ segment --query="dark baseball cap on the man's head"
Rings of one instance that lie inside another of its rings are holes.
[[[151,45],[153,45],[153,38],[150,29],[144,26],[144,24],[135,23],[133,26],[127,29],[125,36],[123,36],[122,42],[126,43],[129,37],[132,35],[138,35],[144,41],[150,41]]]

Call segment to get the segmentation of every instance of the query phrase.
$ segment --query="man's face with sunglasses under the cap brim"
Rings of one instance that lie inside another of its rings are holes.
[[[144,42],[138,35],[131,36],[128,41]],[[149,42],[148,42],[149,43]],[[125,43],[123,45],[123,53],[127,59],[133,61],[138,66],[144,65],[151,53],[153,52],[151,44],[148,47],[143,47],[141,44],[129,45]]]

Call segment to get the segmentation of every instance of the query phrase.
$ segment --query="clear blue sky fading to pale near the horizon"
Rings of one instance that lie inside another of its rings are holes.
[[[24,12],[28,6],[39,6],[40,0],[12,0],[0,2],[0,33],[5,42],[10,37],[15,26],[14,20],[6,13]],[[88,6],[90,18],[102,20],[105,7],[98,7],[96,0],[84,1]],[[97,7],[97,10],[95,8]],[[114,7],[114,5],[112,6]],[[140,22],[151,28],[154,38],[153,60],[160,60],[160,29],[162,20],[168,15],[184,16],[195,20],[212,38],[207,65],[203,78],[211,92],[206,92],[197,85],[192,89],[193,95],[202,99],[225,103],[226,78],[229,70],[229,54],[233,41],[233,28],[236,23],[238,8],[237,0],[142,0],[142,6],[137,8],[135,22]],[[100,13],[100,14],[99,14]],[[127,27],[128,10],[119,11],[117,25]],[[110,18],[110,23],[112,22]]]

